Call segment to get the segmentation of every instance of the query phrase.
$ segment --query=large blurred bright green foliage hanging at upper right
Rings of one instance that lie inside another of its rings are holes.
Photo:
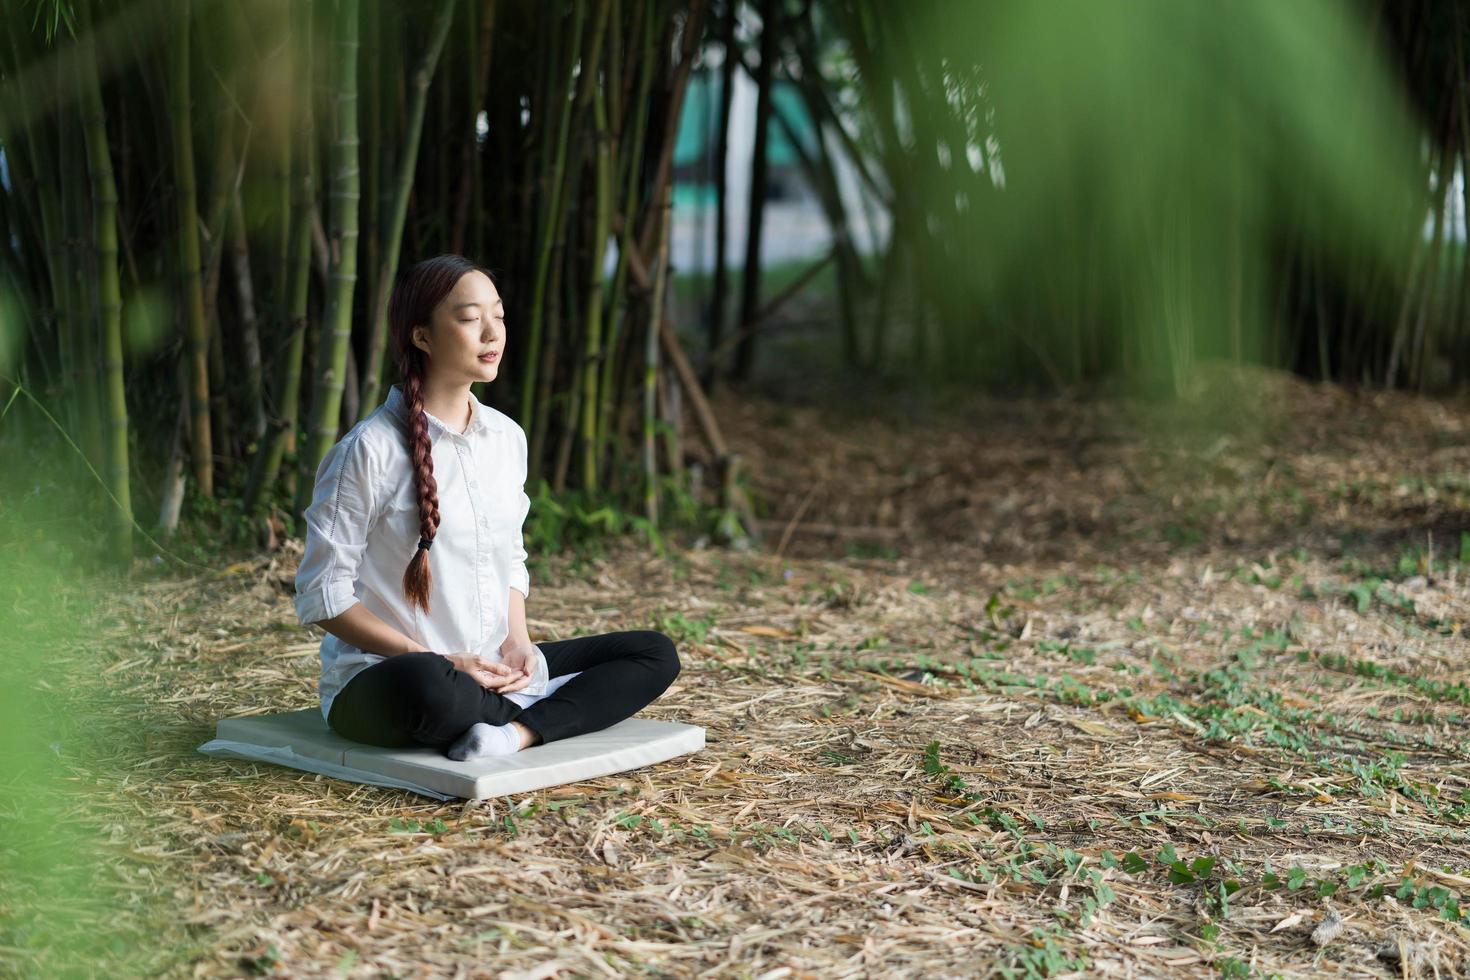
[[[1294,366],[1304,284],[1395,325],[1429,179],[1357,6],[823,10],[935,372],[1180,391],[1202,359]]]

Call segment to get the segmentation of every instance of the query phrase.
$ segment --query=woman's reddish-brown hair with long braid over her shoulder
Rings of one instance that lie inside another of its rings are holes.
[[[409,455],[419,497],[419,547],[403,572],[403,595],[409,605],[417,605],[425,613],[429,611],[429,586],[434,580],[429,573],[429,547],[440,529],[440,485],[434,479],[434,444],[429,441],[429,419],[423,411],[423,378],[429,356],[415,345],[413,328],[432,325],[435,307],[469,272],[482,272],[494,282],[488,269],[463,256],[435,256],[409,269],[394,285],[388,300],[388,328],[409,410]]]

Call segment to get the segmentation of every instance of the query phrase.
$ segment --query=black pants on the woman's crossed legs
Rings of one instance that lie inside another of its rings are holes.
[[[542,742],[556,742],[617,724],[679,676],[673,641],[654,630],[537,645],[550,677],[578,676],[528,708],[479,686],[447,657],[420,652],[388,657],[353,674],[326,721],[344,738],[385,748],[448,748],[476,721],[520,721]]]

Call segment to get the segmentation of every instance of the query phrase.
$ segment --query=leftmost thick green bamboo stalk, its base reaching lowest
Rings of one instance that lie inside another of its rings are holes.
[[[132,563],[132,494],[128,489],[128,400],[122,363],[122,284],[118,275],[118,184],[107,148],[107,119],[91,32],[82,34],[78,59],[87,169],[93,185],[93,237],[97,248],[97,306],[101,314],[103,404],[107,425],[107,488],[118,507],[110,510],[112,557]]]

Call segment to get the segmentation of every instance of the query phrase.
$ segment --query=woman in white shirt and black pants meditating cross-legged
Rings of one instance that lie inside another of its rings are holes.
[[[403,382],[316,472],[295,613],[328,633],[322,714],[348,739],[509,755],[616,724],[679,674],[654,630],[531,642],[526,433],[470,394],[504,316],[467,259],[415,266],[388,304]]]

